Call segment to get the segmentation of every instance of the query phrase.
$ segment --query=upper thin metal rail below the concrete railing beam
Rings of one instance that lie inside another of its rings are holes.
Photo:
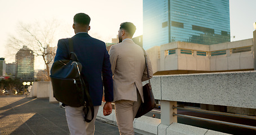
[[[190,111],[197,111],[200,113],[217,114],[217,115],[233,116],[233,117],[237,117],[237,118],[256,120],[255,116],[247,116],[247,115],[241,115],[241,114],[230,114],[230,113],[222,113],[222,112],[218,112],[218,111],[200,110],[200,109],[192,109],[192,108],[176,107],[176,106],[173,106],[173,109],[190,110]]]

